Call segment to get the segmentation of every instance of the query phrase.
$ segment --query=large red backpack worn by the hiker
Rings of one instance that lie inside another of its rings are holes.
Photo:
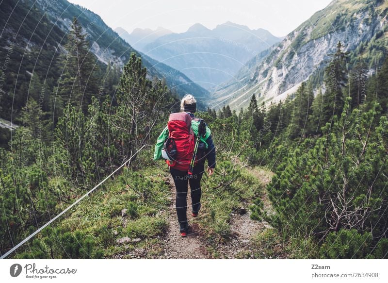
[[[164,150],[168,166],[180,171],[187,171],[194,153],[194,132],[191,117],[185,112],[172,113],[168,119],[168,139]]]

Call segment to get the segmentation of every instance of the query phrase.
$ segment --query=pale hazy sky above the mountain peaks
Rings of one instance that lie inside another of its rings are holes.
[[[135,28],[161,26],[175,33],[195,23],[209,29],[231,21],[284,36],[331,0],[70,0],[95,12],[107,25]]]

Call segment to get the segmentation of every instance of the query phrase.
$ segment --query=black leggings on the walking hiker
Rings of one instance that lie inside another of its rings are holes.
[[[193,168],[193,178],[189,179],[187,177],[187,171],[180,171],[170,167],[170,173],[174,179],[177,190],[175,206],[177,208],[178,221],[182,226],[187,221],[187,181],[190,182],[192,206],[193,210],[196,211],[201,200],[201,179],[203,172],[204,164],[198,164]]]

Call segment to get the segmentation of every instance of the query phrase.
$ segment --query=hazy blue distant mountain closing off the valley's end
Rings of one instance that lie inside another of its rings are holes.
[[[212,30],[197,23],[184,33],[137,44],[143,54],[180,70],[210,90],[230,78],[254,54],[278,41],[280,38],[264,29],[250,30],[229,21]]]

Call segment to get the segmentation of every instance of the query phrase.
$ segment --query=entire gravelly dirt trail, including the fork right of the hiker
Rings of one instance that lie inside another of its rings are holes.
[[[249,173],[258,178],[264,185],[261,198],[264,202],[264,209],[268,213],[273,212],[270,200],[267,196],[265,186],[271,181],[272,172],[260,168],[248,168]],[[148,254],[147,247],[135,248],[134,250],[124,250],[114,254],[112,258],[159,258],[159,259],[234,259],[234,258],[254,258],[258,250],[255,248],[255,243],[252,237],[257,233],[272,227],[265,221],[252,220],[250,218],[251,212],[248,206],[251,204],[247,200],[242,203],[242,207],[232,212],[229,222],[230,237],[227,242],[220,243],[216,247],[207,247],[205,245],[206,239],[201,233],[198,225],[195,223],[196,218],[191,216],[191,197],[190,185],[187,194],[187,216],[190,225],[190,232],[186,237],[181,237],[179,233],[179,224],[177,212],[175,209],[176,189],[174,180],[171,175],[164,179],[170,184],[171,188],[171,204],[167,211],[168,227],[163,236],[158,236],[161,243],[157,245],[157,250],[152,255]],[[198,219],[201,217],[201,212]],[[195,221],[193,221],[195,219]],[[126,220],[124,220],[124,227]],[[128,238],[129,239],[129,238]],[[126,238],[123,238],[126,241]],[[141,241],[141,239],[129,239],[132,243]],[[128,246],[128,244],[127,244]],[[209,249],[210,248],[210,249]],[[209,252],[209,250],[211,252]],[[262,257],[266,257],[262,254]]]

